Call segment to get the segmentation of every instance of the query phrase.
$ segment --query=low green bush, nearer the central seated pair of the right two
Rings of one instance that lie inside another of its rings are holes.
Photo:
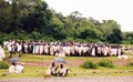
[[[98,64],[92,61],[85,61],[83,64],[81,64],[81,68],[83,69],[98,69]]]

